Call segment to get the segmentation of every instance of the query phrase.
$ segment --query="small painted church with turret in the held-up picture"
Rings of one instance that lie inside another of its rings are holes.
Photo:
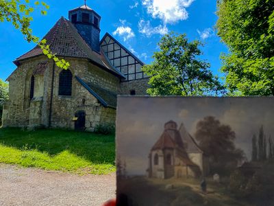
[[[181,124],[170,121],[149,152],[147,175],[151,178],[169,179],[184,176],[200,177],[209,173],[209,159],[195,139]]]

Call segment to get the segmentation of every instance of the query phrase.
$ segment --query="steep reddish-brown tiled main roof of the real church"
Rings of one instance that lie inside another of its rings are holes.
[[[56,56],[86,58],[93,64],[101,67],[115,76],[123,77],[105,58],[103,52],[98,54],[88,46],[84,38],[69,21],[61,17],[44,37],[50,46],[51,52]],[[42,49],[37,45],[34,49],[16,58],[14,63],[18,65],[20,60],[42,55]]]

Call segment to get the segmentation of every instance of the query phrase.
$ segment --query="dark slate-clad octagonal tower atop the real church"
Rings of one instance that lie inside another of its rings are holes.
[[[75,25],[90,48],[99,53],[101,16],[85,3],[85,5],[69,11],[69,21]]]

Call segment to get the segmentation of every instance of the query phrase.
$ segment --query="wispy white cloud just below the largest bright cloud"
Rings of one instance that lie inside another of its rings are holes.
[[[145,21],[141,19],[138,23],[138,30],[141,34],[145,34],[145,36],[149,37],[153,34],[167,34],[169,29],[166,25],[158,25],[157,27],[152,27],[150,21]]]

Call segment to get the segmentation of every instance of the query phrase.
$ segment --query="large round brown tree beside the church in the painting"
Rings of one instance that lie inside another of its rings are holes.
[[[244,152],[234,144],[235,132],[215,117],[204,117],[197,123],[195,138],[210,157],[212,172],[229,172],[245,159]]]

